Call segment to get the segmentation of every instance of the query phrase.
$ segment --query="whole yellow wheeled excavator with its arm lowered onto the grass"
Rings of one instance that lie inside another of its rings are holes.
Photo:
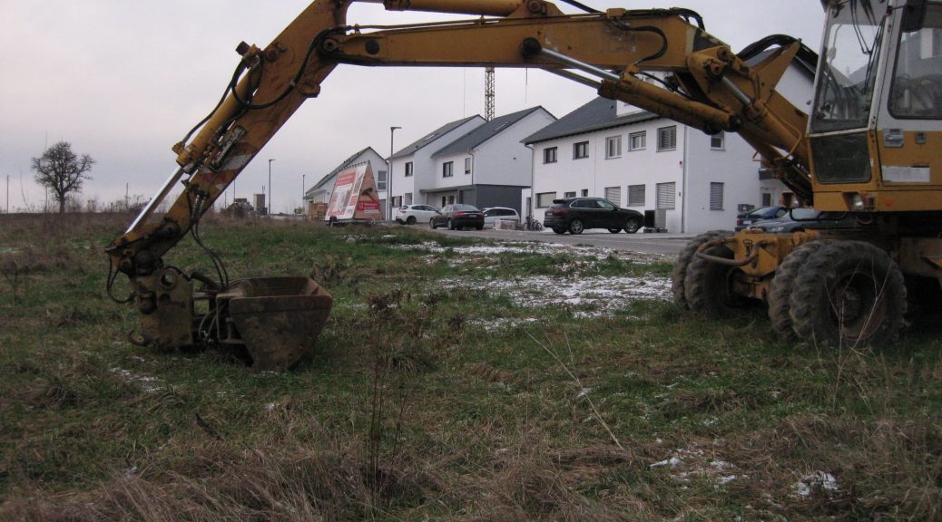
[[[673,274],[674,299],[693,312],[760,301],[788,338],[879,345],[900,333],[907,288],[942,281],[940,0],[823,0],[810,114],[775,91],[809,53],[800,41],[772,36],[736,54],[686,8],[602,12],[561,0],[583,11],[564,14],[543,0],[384,0],[475,17],[368,26],[348,23],[352,1],[316,0],[268,46],[238,45],[219,104],[173,147],[178,167],[108,247],[109,293],[123,273],[124,301],[140,313],[133,342],[243,347],[259,370],[287,368],[310,348],[333,303],[315,281],[230,281],[208,248],[218,278],[185,274],[164,255],[187,233],[203,245],[206,210],[340,64],[549,71],[707,133],[735,132],[804,205],[853,215],[857,227],[830,235],[694,238]],[[154,215],[177,185],[179,198]]]

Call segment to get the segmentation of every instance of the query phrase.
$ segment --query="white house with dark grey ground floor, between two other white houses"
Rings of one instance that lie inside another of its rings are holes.
[[[431,154],[433,176],[415,178],[426,204],[466,203],[521,210],[521,192],[529,187],[533,155],[522,140],[556,121],[541,106],[501,116]],[[430,182],[419,185],[419,180]]]

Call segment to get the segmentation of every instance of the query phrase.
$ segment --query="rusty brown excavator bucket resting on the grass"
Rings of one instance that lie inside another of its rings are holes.
[[[333,297],[309,277],[257,277],[219,293],[219,308],[225,302],[235,325],[233,337],[245,344],[252,369],[280,372],[314,345]]]

